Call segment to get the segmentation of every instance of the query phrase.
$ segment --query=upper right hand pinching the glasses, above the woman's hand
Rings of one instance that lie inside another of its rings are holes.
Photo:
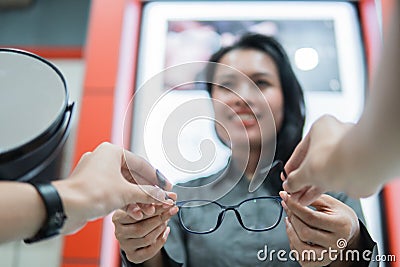
[[[350,184],[343,186],[349,182],[348,177],[335,176],[326,165],[332,151],[352,126],[329,115],[318,119],[285,165],[288,177],[283,183],[284,190],[303,205],[309,205],[326,191],[343,188],[351,191]]]

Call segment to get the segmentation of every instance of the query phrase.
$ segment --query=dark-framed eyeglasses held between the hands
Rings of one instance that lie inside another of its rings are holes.
[[[275,161],[271,171],[279,168],[286,176],[281,161]],[[247,231],[262,232],[275,228],[283,213],[282,199],[279,196],[262,196],[245,199],[233,206],[225,206],[211,200],[186,200],[177,202],[178,217],[183,229],[193,234],[209,234],[217,230],[227,211],[233,211],[239,224]],[[204,218],[207,214],[209,218]]]

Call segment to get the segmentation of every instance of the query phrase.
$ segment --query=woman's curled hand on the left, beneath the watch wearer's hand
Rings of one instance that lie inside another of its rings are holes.
[[[177,212],[176,206],[156,206],[138,220],[132,218],[129,208],[127,211],[117,210],[113,216],[115,236],[127,259],[137,264],[159,253],[170,231],[168,220]]]

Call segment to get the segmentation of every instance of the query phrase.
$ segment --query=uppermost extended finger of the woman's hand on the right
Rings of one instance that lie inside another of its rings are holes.
[[[281,197],[285,201],[285,204],[289,208],[290,212],[292,212],[300,220],[302,220],[309,226],[330,232],[335,229],[335,220],[333,220],[330,215],[325,214],[324,212],[320,212],[319,210],[312,210],[309,207],[301,205],[300,203],[293,200],[292,197],[286,192],[283,192]],[[314,201],[311,205],[315,205],[320,209],[322,207],[327,207],[326,203],[321,198]],[[329,209],[329,207],[327,208]]]

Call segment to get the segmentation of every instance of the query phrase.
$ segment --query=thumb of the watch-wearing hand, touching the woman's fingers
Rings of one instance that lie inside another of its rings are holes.
[[[132,203],[173,205],[177,196],[157,186],[128,183],[124,193],[124,206]]]

